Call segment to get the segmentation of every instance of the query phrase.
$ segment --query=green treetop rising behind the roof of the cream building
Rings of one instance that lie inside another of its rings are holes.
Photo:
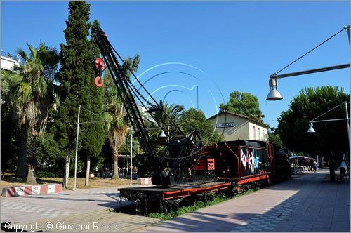
[[[263,122],[263,114],[260,110],[258,98],[251,93],[241,93],[240,91],[233,91],[229,95],[229,100],[226,104],[220,104],[220,112],[229,111],[251,119]]]

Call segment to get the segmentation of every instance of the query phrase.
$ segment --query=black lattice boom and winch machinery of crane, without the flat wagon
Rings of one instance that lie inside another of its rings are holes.
[[[168,114],[164,112],[162,106],[154,100],[152,95],[146,90],[143,84],[141,84],[131,69],[128,68],[124,60],[121,58],[121,55],[119,55],[119,53],[117,53],[112,47],[110,41],[107,39],[107,35],[102,29],[93,28],[93,39],[94,43],[100,48],[102,58],[105,61],[107,68],[110,70],[114,84],[117,87],[119,98],[123,100],[128,119],[135,130],[135,135],[138,136],[140,145],[143,147],[151,161],[154,170],[152,183],[154,185],[167,187],[186,182],[196,182],[197,179],[194,178],[194,174],[192,174],[192,168],[201,159],[202,142],[199,133],[194,131],[190,135],[185,135],[185,133],[180,130]],[[119,60],[126,65],[127,69],[135,77],[141,88],[146,91],[151,102],[144,98],[138,89],[135,88],[130,79],[128,79],[125,69],[120,65]],[[166,133],[167,137],[170,139],[166,151],[163,154],[158,154],[157,150],[150,143],[150,135],[147,132],[143,115],[137,107],[135,98],[138,99],[145,109],[147,109],[147,112],[149,112],[152,117],[152,112],[161,111],[165,114],[166,118],[168,118],[167,125],[165,125],[165,122],[157,122],[157,119],[154,119],[159,128],[164,130],[164,133]],[[150,107],[147,107],[146,104],[150,105]],[[166,126],[169,125],[176,128],[176,132],[173,134],[180,135],[180,137],[173,136],[166,130]]]

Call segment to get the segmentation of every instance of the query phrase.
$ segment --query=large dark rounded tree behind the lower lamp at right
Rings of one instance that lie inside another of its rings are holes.
[[[300,91],[300,95],[291,100],[289,110],[282,112],[281,118],[278,119],[278,132],[284,145],[294,152],[324,154],[330,161],[331,180],[334,178],[331,160],[336,159],[336,152],[346,151],[348,148],[346,122],[316,123],[314,129],[317,133],[307,133],[308,123],[348,100],[350,100],[350,94],[344,93],[343,88],[332,86],[305,88]],[[340,118],[345,118],[344,105],[317,120]]]

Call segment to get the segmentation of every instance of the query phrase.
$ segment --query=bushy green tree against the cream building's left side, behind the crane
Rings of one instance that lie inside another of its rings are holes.
[[[211,121],[206,119],[204,112],[194,108],[183,111],[180,118],[180,127],[185,134],[192,131],[199,131],[203,145],[213,145],[213,143],[223,140],[213,128]]]

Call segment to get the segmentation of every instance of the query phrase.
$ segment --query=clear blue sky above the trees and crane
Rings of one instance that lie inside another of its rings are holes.
[[[140,54],[137,76],[157,100],[218,111],[232,91],[258,97],[265,123],[277,118],[305,86],[340,86],[350,69],[279,79],[284,99],[268,102],[270,74],[350,24],[350,1],[91,1],[111,44],[124,57]],[[60,48],[67,1],[1,1],[1,49],[26,43]],[[341,32],[281,74],[350,62]]]

